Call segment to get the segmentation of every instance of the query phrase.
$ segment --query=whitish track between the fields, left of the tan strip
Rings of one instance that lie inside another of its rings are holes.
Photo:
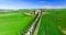
[[[28,30],[28,32],[25,33],[25,35],[33,35],[33,32],[35,31],[35,27],[38,23],[41,13],[38,13],[38,15],[36,16],[35,21],[32,23],[31,27]]]

